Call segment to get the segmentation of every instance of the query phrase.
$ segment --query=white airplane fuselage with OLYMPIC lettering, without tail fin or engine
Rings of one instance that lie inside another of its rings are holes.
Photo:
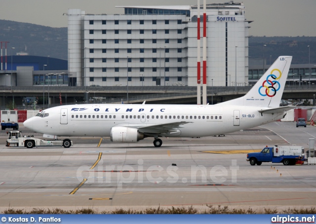
[[[265,107],[228,105],[82,104],[43,110],[47,116],[28,119],[32,130],[57,136],[110,136],[113,127],[142,128],[189,122],[172,132],[147,134],[165,137],[202,137],[227,134],[279,120],[285,114],[261,114]],[[153,132],[154,133],[154,132]]]

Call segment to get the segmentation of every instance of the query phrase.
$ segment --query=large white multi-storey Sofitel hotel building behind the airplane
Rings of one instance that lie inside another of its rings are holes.
[[[77,86],[197,85],[197,5],[117,7],[124,14],[68,10],[69,76]],[[203,21],[203,5],[200,12]],[[207,86],[248,83],[244,13],[243,3],[206,5]]]

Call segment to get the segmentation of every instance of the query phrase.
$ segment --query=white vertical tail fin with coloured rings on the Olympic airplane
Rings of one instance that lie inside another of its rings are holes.
[[[279,107],[292,56],[279,56],[244,96],[221,105]]]

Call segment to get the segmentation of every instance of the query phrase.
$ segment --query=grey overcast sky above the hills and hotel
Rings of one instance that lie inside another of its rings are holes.
[[[229,0],[206,0],[222,3]],[[158,3],[159,2],[159,3]],[[235,2],[240,2],[235,0]],[[242,0],[252,36],[316,36],[316,0]],[[203,0],[200,0],[203,4]],[[0,0],[0,19],[67,27],[68,8],[89,14],[123,14],[126,5],[194,5],[197,0]]]

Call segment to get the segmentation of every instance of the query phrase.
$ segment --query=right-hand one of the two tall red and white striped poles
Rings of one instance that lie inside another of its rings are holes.
[[[207,104],[206,92],[206,0],[203,0],[203,104]]]

